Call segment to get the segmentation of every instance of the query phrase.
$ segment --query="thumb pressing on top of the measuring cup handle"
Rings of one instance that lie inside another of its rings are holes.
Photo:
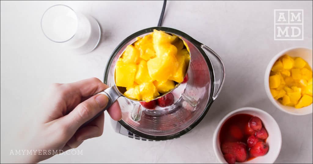
[[[80,126],[101,112],[107,104],[108,97],[97,94],[78,104],[73,111],[62,117],[62,121],[70,127],[70,130],[73,130],[72,132],[76,132]]]

